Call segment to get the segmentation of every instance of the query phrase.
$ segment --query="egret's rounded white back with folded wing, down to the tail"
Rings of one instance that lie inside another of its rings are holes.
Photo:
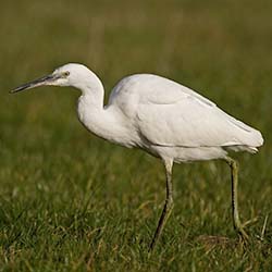
[[[136,74],[123,78],[110,96],[141,138],[160,147],[226,147],[257,151],[257,129],[228,115],[215,103],[168,78]]]

